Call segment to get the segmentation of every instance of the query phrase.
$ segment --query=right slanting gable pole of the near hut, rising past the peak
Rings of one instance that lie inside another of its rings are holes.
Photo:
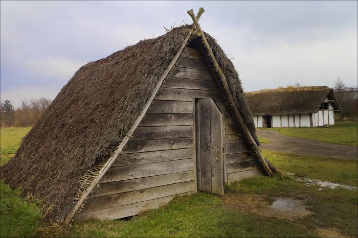
[[[200,8],[200,9],[202,9],[202,8]],[[200,11],[200,10],[199,10],[199,11]],[[203,11],[204,11],[204,9],[203,9]],[[227,92],[227,94],[228,94],[228,96],[229,96],[229,99],[230,99],[231,102],[234,104],[234,102],[235,102],[234,96],[233,96],[233,94],[231,93],[231,90],[230,90],[229,84],[228,84],[228,82],[227,82],[227,80],[226,80],[226,77],[225,77],[225,75],[222,73],[222,70],[221,70],[221,68],[220,68],[220,66],[219,66],[219,64],[218,64],[218,62],[217,62],[216,59],[215,59],[214,53],[212,52],[211,47],[210,47],[210,45],[209,45],[209,43],[208,43],[208,41],[207,41],[207,39],[206,39],[206,37],[205,37],[205,35],[204,35],[204,32],[203,32],[202,28],[200,27],[199,22],[197,21],[195,15],[194,15],[193,9],[187,11],[187,13],[190,15],[191,19],[193,20],[194,25],[195,25],[195,27],[196,27],[196,30],[199,31],[199,32],[202,34],[202,39],[203,39],[204,45],[206,46],[207,51],[208,51],[208,53],[209,53],[209,55],[210,55],[210,58],[212,59],[212,62],[213,62],[214,67],[215,67],[215,70],[216,70],[216,72],[219,74],[219,76],[220,76],[220,78],[221,78],[221,80],[222,80],[223,87],[225,88],[225,90],[226,90],[226,92]],[[243,118],[242,118],[242,116],[241,116],[240,111],[238,110],[238,108],[236,107],[236,105],[233,105],[233,108],[234,108],[234,110],[235,110],[236,116],[237,116],[238,119],[239,119],[239,124],[240,124],[240,126],[241,126],[242,129],[244,130],[245,134],[248,135],[251,144],[253,145],[253,147],[254,147],[256,153],[257,153],[258,156],[259,156],[259,159],[261,160],[261,162],[262,162],[262,164],[263,164],[265,170],[267,171],[267,174],[269,174],[270,176],[272,176],[272,175],[273,175],[273,172],[271,171],[269,165],[266,163],[265,158],[262,156],[262,154],[261,154],[261,152],[260,152],[260,149],[258,148],[258,146],[257,146],[257,144],[256,144],[256,141],[255,141],[254,138],[252,137],[252,135],[251,135],[251,133],[250,133],[248,127],[244,124]]]

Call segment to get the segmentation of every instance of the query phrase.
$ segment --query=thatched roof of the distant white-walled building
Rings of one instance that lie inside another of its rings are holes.
[[[327,86],[265,89],[247,92],[246,98],[254,115],[316,113],[326,98],[335,101],[333,90]],[[337,103],[332,105],[339,110]]]

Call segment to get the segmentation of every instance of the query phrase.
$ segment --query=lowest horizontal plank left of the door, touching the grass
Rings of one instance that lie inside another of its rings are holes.
[[[184,193],[176,196],[185,196],[189,195],[195,192],[189,192]],[[153,199],[149,201],[139,202],[139,203],[133,203],[128,204],[124,206],[118,206],[118,207],[112,207],[112,208],[106,208],[102,210],[96,210],[91,212],[85,212],[85,213],[79,213],[74,216],[74,220],[89,220],[89,219],[120,219],[125,217],[130,217],[134,215],[138,215],[141,212],[145,212],[147,210],[159,208],[161,206],[164,206],[168,204],[175,195],[164,197],[164,198],[158,198]]]

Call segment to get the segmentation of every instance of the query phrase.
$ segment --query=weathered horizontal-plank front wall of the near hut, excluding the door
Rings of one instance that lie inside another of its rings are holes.
[[[225,181],[263,173],[223,104],[202,55],[187,47],[74,220],[129,217],[197,191],[195,98],[212,98],[225,115]]]

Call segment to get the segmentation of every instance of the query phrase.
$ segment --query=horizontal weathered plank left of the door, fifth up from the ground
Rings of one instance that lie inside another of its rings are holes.
[[[120,154],[112,167],[194,158],[194,148]]]

